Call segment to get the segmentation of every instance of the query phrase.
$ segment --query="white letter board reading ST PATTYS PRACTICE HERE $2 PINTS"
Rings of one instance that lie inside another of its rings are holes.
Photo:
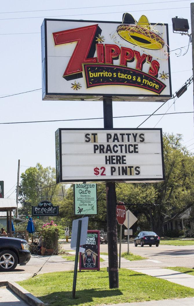
[[[58,129],[59,182],[164,180],[162,129]]]

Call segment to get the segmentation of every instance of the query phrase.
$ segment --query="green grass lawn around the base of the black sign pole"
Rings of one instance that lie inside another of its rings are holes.
[[[194,296],[192,288],[128,269],[119,270],[119,289],[109,289],[105,268],[78,272],[75,300],[73,271],[39,274],[18,284],[49,306],[94,306]]]

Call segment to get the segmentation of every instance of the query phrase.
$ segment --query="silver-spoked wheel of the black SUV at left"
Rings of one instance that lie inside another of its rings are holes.
[[[0,271],[13,271],[17,266],[17,263],[17,255],[14,252],[9,250],[0,252]]]

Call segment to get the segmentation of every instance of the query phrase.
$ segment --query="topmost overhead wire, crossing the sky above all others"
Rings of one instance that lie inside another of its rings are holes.
[[[65,8],[65,9],[38,9],[38,10],[31,10],[31,11],[16,11],[16,12],[2,12],[0,14],[10,14],[10,13],[32,13],[32,12],[48,12],[48,11],[62,11],[62,10],[69,10],[69,9],[97,9],[102,7],[114,7],[114,6],[135,6],[135,5],[142,5],[142,4],[158,4],[158,3],[170,3],[170,2],[185,2],[190,0],[173,0],[173,1],[160,1],[160,2],[147,2],[147,3],[133,3],[133,4],[118,4],[118,5],[104,5],[104,6],[87,6],[87,7],[76,7],[76,8]]]

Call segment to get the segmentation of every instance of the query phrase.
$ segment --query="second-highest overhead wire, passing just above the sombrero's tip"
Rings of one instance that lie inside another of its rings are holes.
[[[147,12],[147,11],[161,11],[161,10],[166,10],[169,8],[165,9],[142,9],[142,10],[136,10],[136,11],[130,11],[130,13],[134,12]],[[186,7],[171,7],[170,9],[190,9],[190,6]],[[117,13],[125,13],[125,11],[122,12],[103,12],[103,13],[88,13],[88,14],[73,14],[73,15],[57,15],[57,16],[35,16],[35,17],[17,17],[17,18],[2,18],[0,20],[14,20],[14,19],[32,19],[32,18],[55,18],[55,17],[71,17],[71,16],[88,16],[88,15],[102,15],[102,14],[117,14]]]

